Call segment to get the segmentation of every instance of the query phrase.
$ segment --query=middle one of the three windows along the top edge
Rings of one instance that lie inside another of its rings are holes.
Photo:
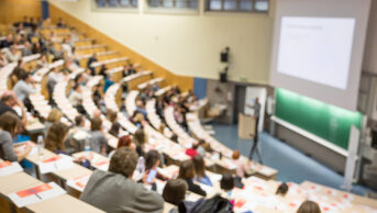
[[[148,0],[149,8],[198,9],[198,0]]]

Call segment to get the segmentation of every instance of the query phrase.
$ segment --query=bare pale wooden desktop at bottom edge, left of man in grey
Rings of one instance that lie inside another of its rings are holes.
[[[103,212],[68,194],[64,194],[60,197],[45,200],[43,202],[26,205],[26,209],[32,212],[38,212],[38,213],[51,213],[51,212],[54,212],[54,213],[71,213],[71,212],[102,213]]]

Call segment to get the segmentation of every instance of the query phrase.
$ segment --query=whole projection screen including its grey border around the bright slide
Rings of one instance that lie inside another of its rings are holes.
[[[270,83],[356,111],[370,0],[278,0]]]

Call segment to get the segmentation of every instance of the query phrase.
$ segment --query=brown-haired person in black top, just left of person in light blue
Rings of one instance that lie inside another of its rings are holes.
[[[186,160],[180,164],[178,178],[181,178],[186,181],[189,191],[203,197],[207,195],[206,191],[202,190],[198,184],[195,184],[192,181],[195,178],[195,168],[191,160]]]

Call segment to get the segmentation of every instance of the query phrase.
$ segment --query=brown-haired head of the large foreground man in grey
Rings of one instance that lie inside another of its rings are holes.
[[[137,154],[129,147],[115,150],[110,159],[109,171],[131,178],[137,165]]]

